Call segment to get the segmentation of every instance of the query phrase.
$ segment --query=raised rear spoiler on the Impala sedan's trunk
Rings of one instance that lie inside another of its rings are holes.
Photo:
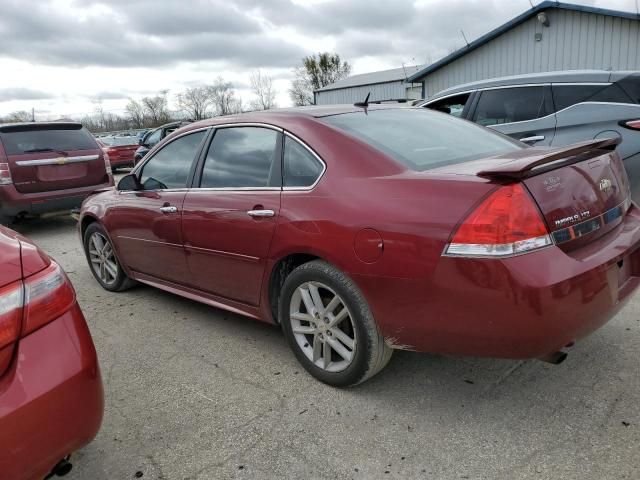
[[[535,153],[532,152],[532,155],[507,160],[504,163],[485,168],[477,175],[485,178],[522,180],[558,168],[560,165],[550,165],[554,162],[562,161],[561,166],[566,166],[584,160],[583,154],[586,153],[597,154],[599,150],[615,150],[621,141],[621,138],[605,138],[574,143],[561,148],[532,148],[531,150],[536,150]],[[544,168],[545,166],[547,168]]]

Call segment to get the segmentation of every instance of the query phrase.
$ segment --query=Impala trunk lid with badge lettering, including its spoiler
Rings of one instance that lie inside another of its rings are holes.
[[[526,149],[527,156],[494,159],[477,171],[495,181],[522,181],[537,203],[553,241],[570,250],[622,222],[630,206],[629,180],[618,139],[556,149]]]

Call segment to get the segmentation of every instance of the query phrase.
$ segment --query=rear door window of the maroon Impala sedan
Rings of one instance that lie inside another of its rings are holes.
[[[209,147],[200,187],[279,187],[279,138],[278,132],[268,128],[221,128]]]

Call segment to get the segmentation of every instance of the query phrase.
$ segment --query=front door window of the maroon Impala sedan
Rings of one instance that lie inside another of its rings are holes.
[[[145,190],[185,188],[191,165],[206,131],[191,133],[173,140],[142,167],[140,183]]]

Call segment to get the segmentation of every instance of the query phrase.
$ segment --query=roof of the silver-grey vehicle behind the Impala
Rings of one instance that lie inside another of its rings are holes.
[[[511,75],[507,77],[489,78],[476,82],[456,85],[438,92],[436,95],[428,98],[426,102],[431,102],[438,98],[448,97],[456,93],[464,93],[473,90],[481,90],[484,88],[504,87],[510,85],[527,85],[538,83],[607,83],[615,82],[632,75],[636,72],[617,71],[611,72],[607,70],[564,70],[560,72],[541,72],[527,73],[524,75]]]

